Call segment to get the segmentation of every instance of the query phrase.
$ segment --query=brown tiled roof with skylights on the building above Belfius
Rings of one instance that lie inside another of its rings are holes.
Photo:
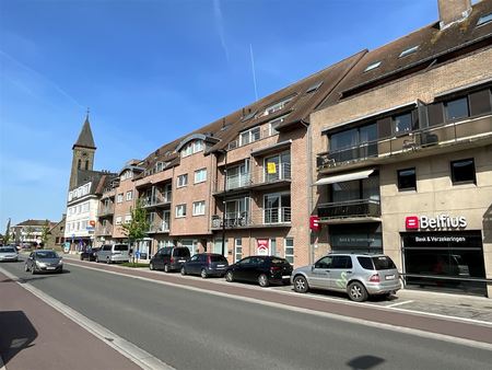
[[[433,68],[459,54],[490,47],[492,22],[479,26],[477,22],[480,16],[491,12],[492,1],[483,0],[472,7],[471,13],[462,22],[444,30],[435,22],[366,53],[340,83],[338,92],[341,99]],[[380,62],[377,67],[366,70],[377,62]],[[337,103],[340,100],[337,95],[328,96],[319,109]]]

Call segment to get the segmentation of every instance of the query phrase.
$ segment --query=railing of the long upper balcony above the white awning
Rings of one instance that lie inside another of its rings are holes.
[[[318,154],[316,164],[318,171],[321,171],[363,160],[420,151],[434,146],[455,144],[475,137],[492,136],[491,119],[492,117],[487,116],[447,123],[393,138],[359,143],[340,150],[330,150]]]

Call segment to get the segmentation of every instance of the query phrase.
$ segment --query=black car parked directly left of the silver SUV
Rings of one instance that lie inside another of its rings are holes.
[[[292,266],[277,256],[249,256],[229,266],[225,280],[257,281],[261,287],[270,284],[288,282],[291,278]]]

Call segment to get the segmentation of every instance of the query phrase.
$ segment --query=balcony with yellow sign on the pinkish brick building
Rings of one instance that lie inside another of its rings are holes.
[[[215,183],[215,196],[239,194],[245,190],[266,190],[276,187],[290,185],[291,183],[291,163],[281,163],[276,165],[276,171],[267,173],[265,167],[259,167],[257,171],[248,172],[246,174],[237,174],[227,176],[225,190],[223,183]]]

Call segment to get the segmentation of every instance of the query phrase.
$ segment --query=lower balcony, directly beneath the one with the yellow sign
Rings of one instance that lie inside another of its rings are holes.
[[[248,229],[265,227],[285,227],[291,224],[291,207],[266,208],[248,212],[227,212],[212,216],[212,229]]]

